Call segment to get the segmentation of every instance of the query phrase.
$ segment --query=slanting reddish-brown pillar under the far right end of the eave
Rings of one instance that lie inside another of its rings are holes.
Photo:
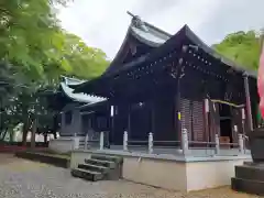
[[[245,89],[245,100],[246,100],[245,107],[246,107],[246,118],[249,123],[249,130],[253,131],[249,76],[244,75],[243,78],[244,78],[244,89]]]

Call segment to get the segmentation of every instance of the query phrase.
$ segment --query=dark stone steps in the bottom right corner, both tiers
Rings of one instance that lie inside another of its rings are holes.
[[[231,179],[232,189],[248,194],[264,195],[264,163],[245,162],[235,166],[235,177]]]

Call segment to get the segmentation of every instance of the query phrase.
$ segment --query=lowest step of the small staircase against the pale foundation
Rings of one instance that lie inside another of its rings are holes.
[[[80,168],[72,169],[72,175],[74,177],[79,177],[79,178],[84,178],[86,180],[92,180],[92,182],[101,180],[103,178],[103,174],[101,173],[80,169]]]

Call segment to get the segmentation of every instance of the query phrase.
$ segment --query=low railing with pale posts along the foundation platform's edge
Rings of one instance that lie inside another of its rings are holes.
[[[99,150],[105,150],[106,145],[106,133],[101,132],[100,138],[98,141],[94,141],[92,147],[97,147]],[[219,135],[216,134],[215,142],[200,142],[200,141],[189,141],[188,139],[188,132],[186,129],[183,129],[182,131],[182,140],[180,141],[155,141],[155,136],[153,133],[148,133],[148,136],[146,138],[146,141],[130,141],[128,132],[124,131],[123,133],[123,145],[122,147],[119,147],[119,150],[123,151],[141,151],[141,152],[147,152],[150,154],[156,153],[156,151],[160,151],[160,153],[166,152],[165,150],[168,148],[168,146],[155,146],[156,144],[164,144],[169,143],[174,145],[179,146],[170,146],[170,152],[173,150],[177,150],[178,153],[182,153],[184,155],[187,154],[194,154],[197,153],[199,155],[198,151],[204,150],[206,154],[208,155],[235,155],[235,154],[245,154],[245,136],[242,134],[239,134],[238,136],[238,143],[220,143]],[[88,144],[91,142],[88,140],[88,135],[85,140],[85,146],[84,148],[88,148]],[[199,146],[194,146],[199,145]],[[205,145],[205,146],[204,146]],[[176,152],[177,153],[177,152]],[[200,152],[201,153],[201,152]]]

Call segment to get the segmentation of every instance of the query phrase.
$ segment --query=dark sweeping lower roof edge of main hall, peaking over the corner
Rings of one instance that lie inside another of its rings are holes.
[[[184,25],[175,35],[173,35],[169,40],[167,40],[164,44],[160,45],[158,47],[154,48],[151,53],[142,55],[141,57],[134,59],[133,62],[130,62],[128,64],[122,65],[122,67],[119,67],[119,69],[114,70],[111,74],[102,75],[101,77],[98,77],[96,79],[92,79],[90,81],[84,82],[78,86],[73,86],[75,88],[74,92],[89,92],[94,95],[100,95],[98,92],[97,87],[100,84],[99,87],[106,87],[109,85],[108,80],[114,79],[116,76],[119,76],[121,73],[128,73],[130,69],[133,69],[134,67],[140,69],[140,67],[143,67],[145,65],[148,65],[153,59],[157,61],[160,58],[163,58],[168,53],[175,51],[176,46],[182,45],[184,42],[190,43],[195,47],[197,47],[197,52],[204,54],[206,58],[210,58],[212,62],[215,62],[217,65],[226,66],[226,69],[231,67],[233,70],[239,72],[241,75],[249,75],[253,78],[256,78],[256,73],[244,69],[243,67],[238,66],[234,62],[229,61],[228,58],[224,58],[223,56],[219,55],[213,48],[209,47],[207,44],[205,44],[189,28],[188,25]],[[211,66],[213,69],[213,64]],[[207,68],[208,69],[208,68]],[[105,88],[103,88],[105,89]]]

